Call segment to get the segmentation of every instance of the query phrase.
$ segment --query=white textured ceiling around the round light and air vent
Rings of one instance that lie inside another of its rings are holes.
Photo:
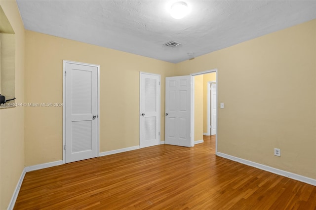
[[[17,0],[25,29],[178,63],[316,18],[316,0]],[[176,41],[181,46],[163,44]],[[194,53],[189,56],[188,53]]]

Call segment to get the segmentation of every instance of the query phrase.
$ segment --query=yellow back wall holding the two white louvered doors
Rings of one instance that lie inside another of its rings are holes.
[[[175,64],[26,31],[26,103],[62,103],[63,60],[100,65],[100,152],[139,145],[139,72],[165,77]],[[26,107],[26,166],[62,160],[62,107]]]

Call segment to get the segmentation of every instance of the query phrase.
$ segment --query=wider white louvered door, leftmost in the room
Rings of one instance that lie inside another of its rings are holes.
[[[97,157],[99,66],[64,61],[65,162]]]

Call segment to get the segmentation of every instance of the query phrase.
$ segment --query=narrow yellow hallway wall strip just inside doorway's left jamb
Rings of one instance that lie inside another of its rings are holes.
[[[203,140],[203,75],[194,76],[194,140]]]

